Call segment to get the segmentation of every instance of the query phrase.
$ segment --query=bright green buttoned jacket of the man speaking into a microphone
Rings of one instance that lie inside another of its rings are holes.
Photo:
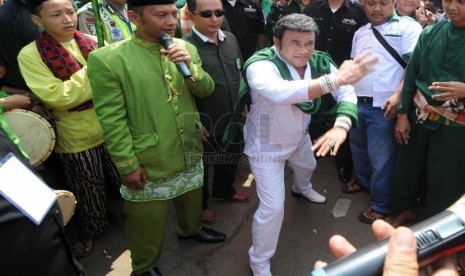
[[[210,95],[214,83],[203,71],[195,47],[174,41],[192,57],[194,82],[184,80],[176,65],[161,55],[160,44],[137,35],[89,56],[95,111],[122,175],[143,167],[149,180],[166,179],[202,159],[201,123],[193,95]]]

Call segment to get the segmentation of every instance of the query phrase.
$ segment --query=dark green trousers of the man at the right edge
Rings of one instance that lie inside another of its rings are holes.
[[[397,152],[390,202],[393,212],[415,209],[425,197],[420,218],[431,217],[465,193],[465,128],[435,130],[410,122],[408,145]]]

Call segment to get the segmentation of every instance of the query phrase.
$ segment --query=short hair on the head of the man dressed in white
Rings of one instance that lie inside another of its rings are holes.
[[[316,25],[315,21],[313,21],[310,16],[293,13],[279,19],[273,28],[273,33],[277,39],[282,40],[284,32],[287,30],[300,33],[314,32],[315,35],[317,35],[318,25]]]

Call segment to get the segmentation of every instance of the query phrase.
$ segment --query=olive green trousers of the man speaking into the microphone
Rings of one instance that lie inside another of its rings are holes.
[[[125,231],[131,251],[132,269],[142,273],[156,266],[163,248],[168,204],[176,210],[176,232],[180,237],[196,234],[201,227],[202,188],[171,200],[125,201]]]

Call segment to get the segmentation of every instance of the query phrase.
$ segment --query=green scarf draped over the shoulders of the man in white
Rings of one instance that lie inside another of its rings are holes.
[[[241,81],[241,85],[239,87],[239,93],[237,96],[237,102],[234,106],[233,115],[231,116],[231,121],[226,128],[226,131],[223,135],[222,142],[224,144],[224,148],[227,149],[229,145],[235,141],[237,135],[241,131],[245,118],[243,116],[244,106],[250,106],[250,93],[249,93],[249,86],[247,84],[246,79],[246,70],[247,67],[260,60],[269,60],[273,62],[273,64],[278,67],[278,70],[281,74],[281,77],[284,80],[292,81],[294,80],[291,76],[291,72],[287,68],[284,61],[276,55],[275,51],[271,48],[265,48],[258,52],[256,52],[253,56],[251,56],[244,65],[243,70],[243,78]],[[334,61],[331,57],[321,51],[315,50],[312,54],[312,57],[308,61],[310,65],[310,69],[312,72],[312,79],[317,79],[322,75],[329,74],[331,72],[331,64],[336,66]],[[337,67],[337,66],[336,66]],[[352,124],[354,126],[358,123],[358,109],[357,105],[349,102],[340,102],[336,104],[332,104],[331,106],[326,106],[325,110],[321,110],[321,98],[316,98],[312,102],[304,102],[298,103],[296,106],[302,110],[302,112],[306,114],[318,114],[319,112],[330,113],[336,118],[338,115],[346,115],[352,119]],[[318,113],[317,113],[318,112]]]

